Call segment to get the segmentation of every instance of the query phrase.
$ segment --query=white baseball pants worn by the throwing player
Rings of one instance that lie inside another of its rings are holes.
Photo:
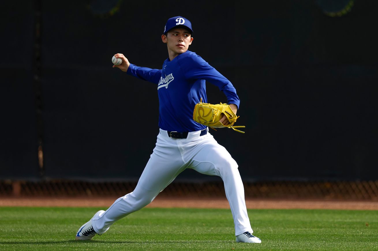
[[[186,168],[220,176],[234,218],[235,235],[253,233],[237,163],[209,132],[199,135],[197,131],[190,132],[186,139],[171,139],[167,131],[160,129],[156,146],[134,191],[118,198],[92,220],[96,233],[105,233],[116,220],[148,205]]]

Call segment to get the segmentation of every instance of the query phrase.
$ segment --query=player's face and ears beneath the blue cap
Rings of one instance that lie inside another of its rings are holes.
[[[180,55],[192,44],[193,38],[187,29],[174,28],[162,36],[163,43],[167,44],[169,55]]]

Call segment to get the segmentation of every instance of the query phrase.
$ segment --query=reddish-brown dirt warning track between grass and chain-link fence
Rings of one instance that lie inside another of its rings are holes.
[[[0,197],[0,207],[104,207],[118,197]],[[248,209],[378,210],[378,201],[246,199]],[[229,208],[227,199],[156,197],[146,207]]]

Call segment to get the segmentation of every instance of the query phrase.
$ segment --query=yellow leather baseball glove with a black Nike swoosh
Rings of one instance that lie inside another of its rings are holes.
[[[219,121],[222,114],[226,116],[226,118],[229,121],[229,124],[227,126],[223,125],[222,122]],[[228,104],[209,104],[198,102],[194,106],[193,120],[205,126],[211,127],[212,129],[227,127],[232,128],[237,132],[244,133],[240,130],[235,129],[235,127],[245,127],[234,126],[237,118],[239,118],[239,116],[235,115],[235,113],[232,111],[231,107]]]

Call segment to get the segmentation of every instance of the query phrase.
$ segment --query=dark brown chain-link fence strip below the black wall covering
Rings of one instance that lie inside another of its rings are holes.
[[[136,182],[0,181],[0,196],[122,196]],[[378,181],[244,182],[246,198],[378,200]],[[224,197],[223,182],[173,182],[160,196]]]

